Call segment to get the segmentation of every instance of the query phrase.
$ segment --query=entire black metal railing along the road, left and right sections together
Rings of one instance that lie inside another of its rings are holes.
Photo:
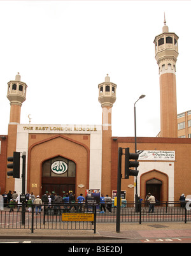
[[[191,204],[191,202],[190,202]],[[96,222],[116,222],[117,207],[111,204],[52,204],[31,209],[22,205],[0,211],[0,229],[96,230]],[[191,205],[190,205],[191,206]],[[160,202],[149,213],[149,204],[127,202],[120,207],[120,222],[190,222],[191,210],[180,202]],[[10,211],[11,210],[11,211]],[[18,211],[19,210],[19,211]],[[63,216],[66,217],[63,219]],[[91,218],[89,218],[91,217]],[[93,217],[93,219],[92,219]]]

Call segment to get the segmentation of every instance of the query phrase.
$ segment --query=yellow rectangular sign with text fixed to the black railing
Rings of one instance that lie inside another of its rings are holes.
[[[62,222],[94,222],[94,213],[62,213]]]

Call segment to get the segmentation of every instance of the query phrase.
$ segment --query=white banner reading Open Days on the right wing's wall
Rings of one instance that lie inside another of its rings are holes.
[[[175,161],[175,151],[139,150],[139,160]]]

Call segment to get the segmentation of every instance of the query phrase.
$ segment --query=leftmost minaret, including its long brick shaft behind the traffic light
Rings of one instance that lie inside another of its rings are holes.
[[[19,73],[15,80],[8,82],[7,98],[10,100],[10,123],[8,125],[7,156],[13,156],[17,151],[17,125],[20,123],[20,110],[22,103],[26,100],[27,85],[20,81]],[[7,177],[6,190],[15,190],[15,179]],[[17,190],[17,189],[16,189]]]

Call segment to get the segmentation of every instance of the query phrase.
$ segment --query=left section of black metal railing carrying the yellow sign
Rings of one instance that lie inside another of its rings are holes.
[[[38,210],[40,208],[40,211]],[[63,220],[63,216],[67,220]],[[93,216],[93,219],[89,216]],[[63,229],[94,230],[96,232],[96,206],[82,204],[32,205],[30,211],[23,205],[13,211],[0,211],[0,229]]]

